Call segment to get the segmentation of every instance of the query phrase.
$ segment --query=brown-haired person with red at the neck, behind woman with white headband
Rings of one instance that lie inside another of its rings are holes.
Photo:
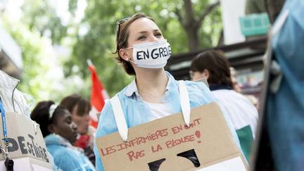
[[[78,127],[77,132],[80,134],[80,137],[77,138],[73,145],[82,148],[91,163],[95,165],[93,144],[96,129],[89,125],[91,104],[87,99],[84,99],[78,94],[66,96],[60,104],[68,108],[72,114],[72,121],[75,122]]]

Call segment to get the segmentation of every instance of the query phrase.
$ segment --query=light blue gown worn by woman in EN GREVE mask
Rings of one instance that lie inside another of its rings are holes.
[[[179,100],[178,81],[175,80],[175,78],[170,75],[169,72],[166,72],[166,75],[169,78],[169,81],[167,83],[165,95],[163,96],[162,100],[164,103],[169,104],[173,113],[181,113],[182,108],[180,106]],[[185,81],[185,84],[186,89],[188,90],[191,108],[202,106],[203,104],[215,101],[215,98],[211,94],[211,91],[208,89],[208,87],[206,87],[203,82]],[[128,127],[134,127],[153,120],[153,118],[151,117],[151,109],[146,103],[144,103],[143,99],[141,99],[141,96],[137,91],[135,80],[133,80],[133,82],[127,87],[125,87],[125,89],[122,89],[122,91],[120,91],[117,95],[120,99],[122,111],[125,114],[125,120],[127,122]],[[239,139],[237,138],[234,127],[232,126],[232,122],[230,121],[229,116],[223,110],[223,108],[222,111],[224,114],[224,118],[227,120],[229,128],[232,132],[234,140],[240,148]],[[108,101],[103,107],[103,110],[101,111],[99,125],[96,130],[95,140],[99,137],[102,137],[103,135],[110,134],[113,132],[118,132],[118,127],[115,122],[112,106]],[[96,170],[102,171],[103,165],[101,163],[99,151],[96,147],[96,141],[94,144],[94,153],[96,156]]]

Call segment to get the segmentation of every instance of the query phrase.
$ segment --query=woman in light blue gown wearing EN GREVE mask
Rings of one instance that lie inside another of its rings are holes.
[[[151,53],[148,53],[151,52]],[[120,91],[118,97],[127,127],[134,127],[173,113],[181,113],[179,82],[164,67],[171,49],[152,18],[137,13],[117,23],[116,51],[118,62],[135,79]],[[191,108],[215,101],[203,82],[185,81]],[[225,115],[228,125],[229,118]],[[230,126],[235,141],[236,133]],[[103,107],[96,131],[96,139],[117,132],[112,104]],[[96,170],[103,170],[99,151],[94,145]],[[154,168],[150,167],[150,170]],[[158,168],[156,168],[158,170]]]

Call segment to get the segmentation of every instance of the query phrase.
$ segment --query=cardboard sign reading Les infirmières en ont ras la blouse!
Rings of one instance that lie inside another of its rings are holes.
[[[115,132],[96,139],[105,170],[198,170],[233,158],[244,159],[236,146],[217,103],[191,109],[191,125],[184,125],[182,113],[129,128],[128,141]],[[181,157],[194,151],[199,165]]]

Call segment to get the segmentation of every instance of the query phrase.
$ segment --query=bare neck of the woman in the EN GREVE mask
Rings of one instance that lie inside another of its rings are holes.
[[[137,70],[137,89],[144,101],[162,103],[161,99],[165,94],[167,82],[168,77],[164,69]]]

